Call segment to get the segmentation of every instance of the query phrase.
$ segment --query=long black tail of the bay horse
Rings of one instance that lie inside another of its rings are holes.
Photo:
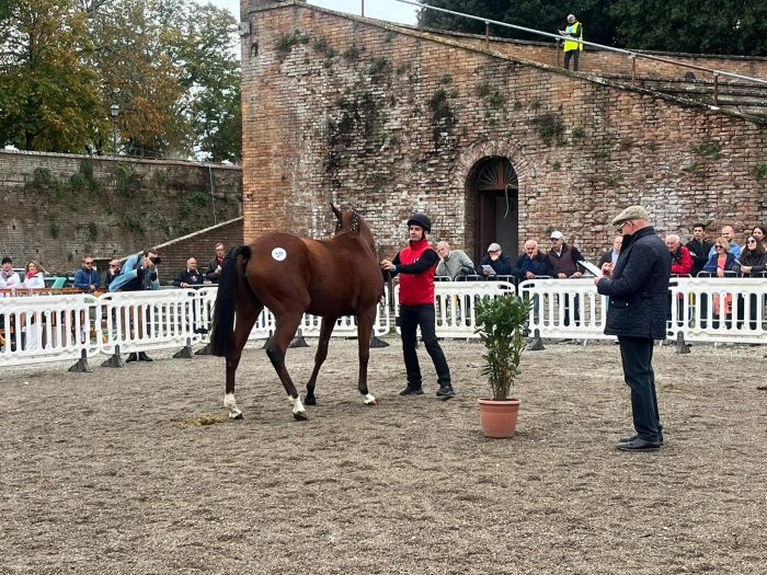
[[[238,260],[242,256],[241,264]],[[234,303],[237,290],[244,272],[239,273],[238,266],[244,271],[251,256],[249,245],[233,248],[224,262],[224,268],[218,276],[218,294],[216,295],[216,308],[213,314],[213,329],[210,331],[210,350],[218,357],[227,357],[232,348],[234,332]]]

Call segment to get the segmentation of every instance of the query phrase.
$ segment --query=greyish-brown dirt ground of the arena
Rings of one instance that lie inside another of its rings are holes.
[[[656,348],[665,447],[625,453],[617,346],[526,352],[516,436],[483,438],[479,343],[444,342],[458,396],[400,398],[401,347],[331,343],[308,422],[260,345],[225,411],[222,359],[0,373],[0,573],[767,572],[764,347]],[[297,382],[314,354],[290,349]],[[302,386],[302,383],[301,383]],[[199,425],[201,422],[209,425]]]

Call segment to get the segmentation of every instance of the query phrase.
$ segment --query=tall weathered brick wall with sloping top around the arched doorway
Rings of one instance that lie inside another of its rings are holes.
[[[243,7],[245,237],[330,235],[333,200],[382,253],[423,210],[477,254],[470,174],[493,156],[518,176],[520,241],[557,228],[595,257],[633,203],[683,237],[767,220],[762,124],[298,2]]]

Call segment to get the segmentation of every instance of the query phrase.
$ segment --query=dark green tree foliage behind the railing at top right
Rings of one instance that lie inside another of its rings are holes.
[[[423,0],[445,8],[542,32],[562,30],[566,14],[583,23],[584,39],[622,48],[767,56],[767,3],[743,0]],[[420,23],[443,30],[484,34],[484,24],[436,11]],[[548,42],[542,36],[493,26],[497,36]]]

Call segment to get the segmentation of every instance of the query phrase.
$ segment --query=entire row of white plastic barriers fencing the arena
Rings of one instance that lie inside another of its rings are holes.
[[[514,294],[505,281],[440,281],[435,286],[436,333],[469,338],[474,334],[474,303],[483,296]],[[529,315],[531,335],[548,338],[603,340],[607,298],[591,278],[533,279],[518,292],[536,302]],[[206,343],[216,287],[105,294],[9,297],[0,299],[5,344],[0,366],[72,360],[98,354],[182,348]],[[669,284],[668,336],[688,342],[767,344],[767,278],[674,278]],[[399,310],[399,286],[394,290]],[[577,311],[577,314],[575,313]],[[274,315],[263,310],[250,338],[274,333]],[[381,300],[374,325],[389,333],[392,314]],[[306,315],[302,334],[319,335],[318,318]],[[356,335],[344,317],[334,336]]]

